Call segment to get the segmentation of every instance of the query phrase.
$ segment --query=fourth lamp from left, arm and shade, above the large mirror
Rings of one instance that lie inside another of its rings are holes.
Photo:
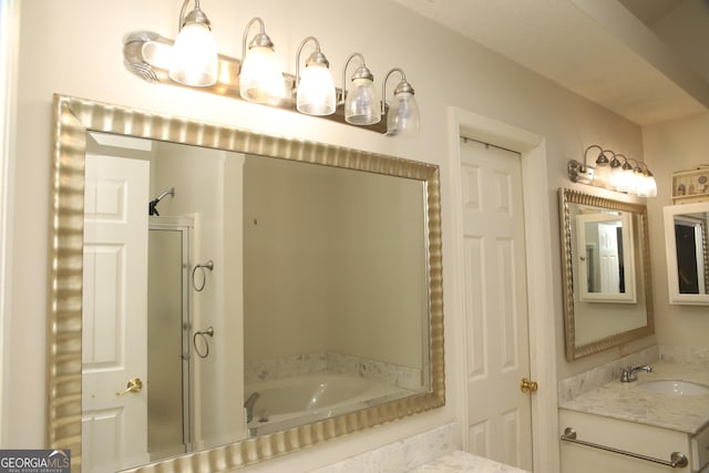
[[[359,58],[361,65],[352,74],[352,88],[347,91],[347,66],[354,58]],[[381,120],[381,105],[377,97],[374,75],[364,63],[364,56],[354,52],[345,61],[342,68],[342,97],[345,105],[345,121],[353,125],[373,125]]]

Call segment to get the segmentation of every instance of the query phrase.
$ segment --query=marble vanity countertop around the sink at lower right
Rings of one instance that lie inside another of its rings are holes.
[[[639,388],[651,380],[690,381],[709,387],[703,364],[653,364],[653,372],[640,371],[633,382],[612,381],[559,404],[562,409],[604,415],[664,429],[697,434],[709,425],[709,394],[658,394]]]

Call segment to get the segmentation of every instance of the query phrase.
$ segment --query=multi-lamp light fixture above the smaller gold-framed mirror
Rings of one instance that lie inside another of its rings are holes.
[[[598,150],[595,167],[587,165],[586,157],[590,150]],[[569,161],[567,169],[568,177],[575,183],[589,184],[638,197],[657,196],[657,183],[647,164],[624,154],[604,150],[597,144],[593,144],[584,151],[583,163],[575,160]]]

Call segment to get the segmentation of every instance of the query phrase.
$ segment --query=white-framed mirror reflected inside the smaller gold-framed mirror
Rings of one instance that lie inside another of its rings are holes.
[[[635,302],[631,225],[628,213],[576,216],[580,300]]]

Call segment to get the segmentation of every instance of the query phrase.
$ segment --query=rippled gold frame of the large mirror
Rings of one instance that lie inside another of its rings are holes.
[[[440,171],[436,165],[290,140],[55,94],[50,222],[47,445],[71,449],[81,471],[82,278],[86,131],[269,155],[425,183],[431,391],[315,423],[140,466],[225,471],[445,404]],[[171,466],[168,466],[171,465]],[[135,469],[135,470],[138,470]]]

